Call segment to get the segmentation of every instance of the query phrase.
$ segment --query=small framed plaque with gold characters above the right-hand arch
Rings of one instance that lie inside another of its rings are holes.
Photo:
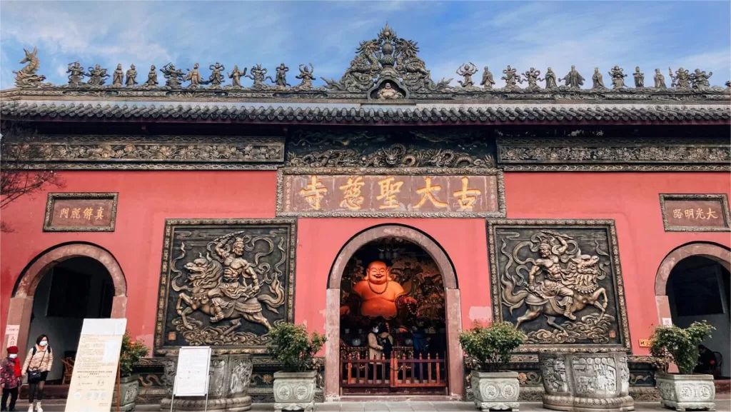
[[[666,232],[726,232],[729,201],[724,193],[713,195],[660,194],[662,223]]]

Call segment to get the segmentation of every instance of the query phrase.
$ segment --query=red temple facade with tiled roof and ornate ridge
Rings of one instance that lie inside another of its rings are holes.
[[[386,26],[340,79],[84,62],[54,85],[26,50],[0,91],[2,168],[43,181],[2,209],[3,347],[48,334],[63,386],[83,318],[127,318],[151,348],[138,402],[184,345],[251,353],[249,394],[270,400],[281,322],[327,335],[319,400],[469,397],[458,334],[476,322],[528,336],[523,399],[536,353],[602,350],[656,399],[656,325],[706,319],[731,359],[730,83],[471,63],[437,80],[418,52]],[[355,377],[374,323],[428,359],[422,385]]]

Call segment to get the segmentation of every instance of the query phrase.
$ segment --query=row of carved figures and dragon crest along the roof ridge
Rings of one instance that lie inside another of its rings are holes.
[[[350,62],[339,80],[321,78],[325,85],[314,86],[316,80],[314,66],[300,64],[300,74],[295,78],[300,83],[292,86],[287,83],[289,67],[284,63],[276,67],[276,77],[266,75],[268,70],[261,64],[252,65],[249,75],[246,67],[243,72],[234,66],[227,72],[223,64],[210,64],[208,80],[194,64],[193,69],[175,68],[173,63],[164,64],[161,69],[151,66],[146,80],[137,82],[135,65],[129,70],[122,70],[121,64],[113,71],[111,84],[105,84],[107,69],[88,67],[85,70],[78,61],[69,63],[67,73],[69,82],[65,85],[44,83],[45,76],[37,74],[40,63],[37,49],[26,50],[26,57],[20,63],[26,63],[14,72],[15,86],[18,89],[2,91],[2,97],[15,98],[23,96],[82,96],[82,97],[125,97],[133,99],[152,98],[154,100],[209,100],[219,98],[279,98],[279,99],[327,99],[327,100],[730,100],[731,82],[726,87],[711,86],[709,78],[713,72],[700,69],[689,71],[678,68],[673,72],[669,68],[670,85],[659,69],[654,70],[651,81],[645,86],[645,74],[640,67],[632,72],[634,87],[627,86],[621,67],[613,67],[607,74],[610,76],[611,89],[606,87],[602,72],[597,67],[591,76],[591,88],[582,87],[586,79],[580,75],[575,66],[563,78],[558,78],[551,67],[546,70],[544,78],[539,78],[541,70],[531,67],[526,72],[507,66],[502,70],[502,79],[506,86],[495,88],[493,75],[485,67],[482,82],[476,86],[471,76],[479,70],[471,62],[461,64],[456,73],[463,77],[458,85],[452,86],[452,78],[434,81],[425,62],[418,56],[417,42],[406,40],[396,35],[388,24],[373,40],[360,42],[355,50],[355,58]],[[205,67],[205,64],[203,65]],[[163,84],[158,80],[162,73]],[[225,74],[225,75],[224,75]],[[125,79],[126,75],[126,79]],[[522,77],[522,78],[521,78]],[[88,78],[84,82],[84,78]],[[226,78],[231,84],[224,84]],[[243,78],[250,78],[251,86],[242,86]],[[265,83],[267,80],[270,83]],[[537,81],[545,81],[540,86]],[[527,87],[518,86],[523,82]],[[588,84],[587,84],[588,86]]]

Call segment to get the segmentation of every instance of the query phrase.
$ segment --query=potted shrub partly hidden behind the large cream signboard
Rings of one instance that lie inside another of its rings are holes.
[[[114,384],[112,397],[112,411],[117,410],[117,397],[119,394],[119,410],[134,411],[137,404],[137,394],[140,394],[140,381],[137,374],[132,373],[132,368],[140,362],[140,358],[147,356],[149,350],[143,342],[132,340],[129,331],[124,332],[122,337],[122,348],[119,354],[119,381]],[[117,392],[119,389],[119,392]]]

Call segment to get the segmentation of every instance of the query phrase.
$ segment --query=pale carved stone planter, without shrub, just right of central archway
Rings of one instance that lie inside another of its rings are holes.
[[[518,411],[518,372],[473,370],[471,383],[474,405],[481,411]]]

